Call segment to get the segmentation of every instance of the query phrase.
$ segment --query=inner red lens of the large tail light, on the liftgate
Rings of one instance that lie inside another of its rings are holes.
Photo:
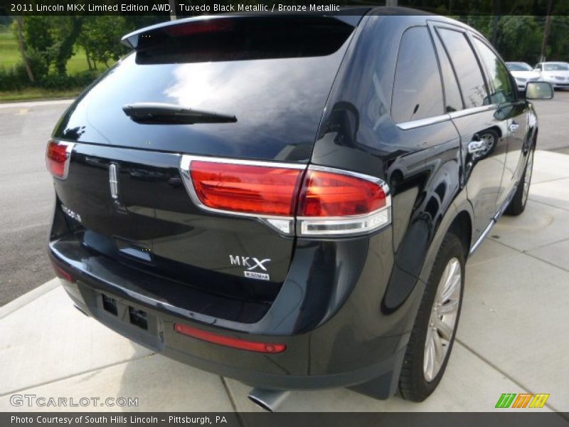
[[[209,208],[292,216],[302,170],[193,160],[190,174],[196,196]]]

